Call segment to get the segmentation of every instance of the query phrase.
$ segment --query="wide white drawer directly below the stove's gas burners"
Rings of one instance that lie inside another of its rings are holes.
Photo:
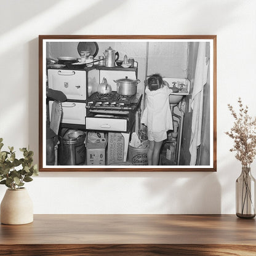
[[[127,120],[111,118],[86,118],[86,129],[126,132]]]

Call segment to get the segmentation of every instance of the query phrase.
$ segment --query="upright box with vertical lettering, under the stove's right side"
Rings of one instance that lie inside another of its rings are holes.
[[[108,133],[108,165],[124,162],[124,137],[121,132]]]

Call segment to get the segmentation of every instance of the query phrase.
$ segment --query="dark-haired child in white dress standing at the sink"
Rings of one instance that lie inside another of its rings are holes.
[[[162,80],[160,74],[153,74],[148,78],[145,89],[147,96],[146,108],[142,114],[142,124],[148,127],[148,165],[157,166],[162,142],[167,138],[167,130],[172,130],[172,113],[169,105],[169,94],[178,92],[176,87],[169,88],[169,84]]]

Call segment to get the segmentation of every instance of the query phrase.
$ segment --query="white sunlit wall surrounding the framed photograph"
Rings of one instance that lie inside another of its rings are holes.
[[[241,167],[226,105],[241,96],[256,115],[255,9],[250,0],[1,0],[0,137],[29,144],[36,162],[39,34],[217,34],[216,173],[44,172],[26,185],[34,213],[234,214]]]

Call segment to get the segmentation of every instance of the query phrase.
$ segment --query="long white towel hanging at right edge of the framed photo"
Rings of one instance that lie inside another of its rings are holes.
[[[209,58],[206,56],[206,42],[199,42],[198,58],[196,60],[196,72],[194,75],[194,87],[191,97],[192,122],[190,138],[190,165],[196,165],[197,149],[201,145],[202,131],[202,104],[204,85],[207,81]]]

